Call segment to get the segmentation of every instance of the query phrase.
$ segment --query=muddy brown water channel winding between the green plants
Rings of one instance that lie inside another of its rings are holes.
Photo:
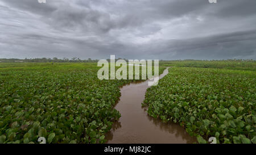
[[[159,76],[168,74],[168,69]],[[121,97],[115,109],[121,113],[110,132],[106,133],[106,143],[194,143],[195,138],[188,135],[177,123],[163,123],[147,114],[142,108],[148,81],[131,83],[121,88]]]

